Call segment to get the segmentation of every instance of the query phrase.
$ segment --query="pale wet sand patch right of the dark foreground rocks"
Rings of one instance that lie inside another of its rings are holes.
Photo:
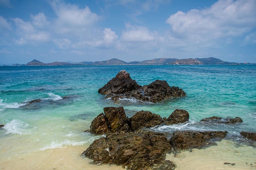
[[[205,149],[192,149],[181,153],[167,154],[175,170],[256,170],[256,148],[236,146],[234,142],[222,140],[218,145]]]

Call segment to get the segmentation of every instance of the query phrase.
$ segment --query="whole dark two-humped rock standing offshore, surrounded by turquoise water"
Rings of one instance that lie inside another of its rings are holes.
[[[125,70],[120,71],[116,77],[111,79],[98,91],[106,98],[111,98],[115,102],[119,99],[137,99],[143,102],[162,102],[171,97],[182,97],[186,93],[179,87],[171,87],[164,80],[156,80],[149,85],[140,86],[135,80],[130,78],[130,74]]]

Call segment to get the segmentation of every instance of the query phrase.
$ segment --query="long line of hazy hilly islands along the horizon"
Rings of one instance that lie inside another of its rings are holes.
[[[176,59],[176,58],[155,58],[152,60],[144,60],[142,62],[124,62],[122,60],[112,58],[106,61],[97,62],[51,62],[43,63],[38,60],[33,60],[27,64],[13,64],[12,66],[71,66],[71,65],[200,65],[200,64],[239,64],[235,62],[225,62],[218,58],[189,58],[189,59]],[[244,63],[248,64],[248,63]]]

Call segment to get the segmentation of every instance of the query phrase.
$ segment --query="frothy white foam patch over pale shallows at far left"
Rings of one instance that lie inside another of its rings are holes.
[[[4,129],[6,130],[6,134],[27,134],[29,131],[27,130],[29,124],[25,124],[24,122],[14,119],[9,123],[4,125]]]

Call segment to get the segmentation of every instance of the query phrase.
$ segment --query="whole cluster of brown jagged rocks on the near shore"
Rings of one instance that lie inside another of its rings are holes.
[[[148,128],[189,121],[186,110],[176,109],[168,118],[143,110],[128,118],[123,107],[103,110],[86,132],[106,134],[106,137],[95,140],[82,156],[95,163],[121,165],[127,170],[173,170],[175,164],[165,160],[166,153],[208,146],[213,144],[209,139],[222,139],[227,134],[227,131],[180,131],[167,139],[166,134]]]

